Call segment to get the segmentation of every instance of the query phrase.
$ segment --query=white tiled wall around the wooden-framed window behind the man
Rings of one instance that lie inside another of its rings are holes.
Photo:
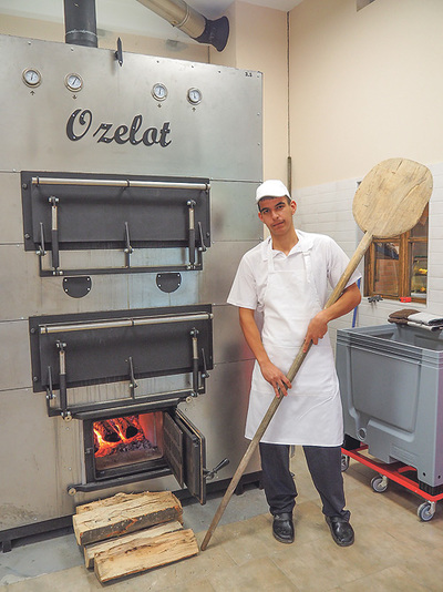
[[[336,340],[337,329],[351,327],[354,317],[356,326],[364,327],[387,324],[388,316],[401,308],[443,315],[443,163],[427,166],[433,175],[434,188],[430,202],[426,304],[404,304],[399,300],[369,303],[368,298],[362,298],[356,315],[350,313],[331,323],[329,333],[332,343]],[[351,257],[362,237],[362,232],[352,216],[352,201],[359,181],[361,180],[350,178],[296,190],[296,227],[331,236]],[[363,275],[363,262],[359,269]],[[361,292],[363,293],[363,279]]]

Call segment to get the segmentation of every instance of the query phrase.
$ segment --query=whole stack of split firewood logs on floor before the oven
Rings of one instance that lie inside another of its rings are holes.
[[[194,532],[171,491],[117,493],[76,508],[76,542],[86,568],[104,583],[198,553]]]

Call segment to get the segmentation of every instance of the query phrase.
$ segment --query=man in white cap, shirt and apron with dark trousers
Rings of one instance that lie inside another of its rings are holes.
[[[332,538],[348,547],[354,533],[344,509],[342,410],[328,323],[360,303],[356,284],[360,274],[354,273],[336,304],[323,309],[328,284],[338,283],[348,257],[330,237],[296,231],[297,205],[281,181],[265,181],[256,202],[270,236],[244,255],[228,296],[228,303],[239,307],[240,326],[256,358],[246,438],[254,437],[272,397],[282,392],[285,399],[259,445],[274,537],[284,543],[293,541],[297,489],[289,449],[299,445]],[[262,316],[261,330],[256,313]],[[300,347],[306,350],[310,341],[312,347],[291,385],[286,374]]]

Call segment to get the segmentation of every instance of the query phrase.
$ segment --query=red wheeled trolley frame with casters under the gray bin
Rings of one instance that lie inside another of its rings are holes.
[[[347,450],[346,448],[341,449],[341,470],[346,471],[349,468],[349,459],[353,458],[358,462],[365,465],[370,469],[373,469],[379,474],[371,479],[371,487],[377,493],[383,493],[387,491],[389,486],[389,480],[395,481],[396,483],[405,487],[409,491],[416,493],[425,501],[421,503],[416,510],[416,514],[420,520],[429,522],[435,514],[436,502],[443,499],[443,492],[439,494],[431,494],[420,488],[419,482],[414,479],[416,476],[416,469],[404,465],[403,462],[392,462],[384,463],[375,459],[369,458],[362,453],[362,451],[368,450],[367,445],[360,446],[354,450]],[[413,473],[408,474],[408,473]],[[434,488],[436,489],[436,488]],[[439,488],[441,489],[441,488]]]

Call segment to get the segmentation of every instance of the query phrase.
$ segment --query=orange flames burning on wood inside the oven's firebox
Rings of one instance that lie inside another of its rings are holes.
[[[95,458],[117,452],[119,447],[145,439],[137,416],[94,421]]]

